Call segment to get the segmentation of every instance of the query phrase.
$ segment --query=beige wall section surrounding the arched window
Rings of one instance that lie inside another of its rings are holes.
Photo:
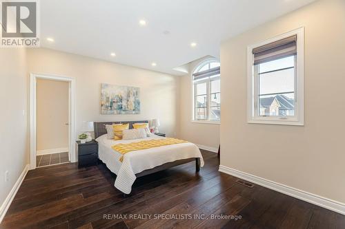
[[[195,144],[211,147],[215,150],[219,146],[219,124],[208,124],[192,122],[193,120],[193,99],[192,99],[192,74],[199,64],[203,63],[210,56],[193,61],[188,65],[188,74],[180,76],[179,94],[179,138],[188,140]],[[221,95],[222,96],[222,95]]]

